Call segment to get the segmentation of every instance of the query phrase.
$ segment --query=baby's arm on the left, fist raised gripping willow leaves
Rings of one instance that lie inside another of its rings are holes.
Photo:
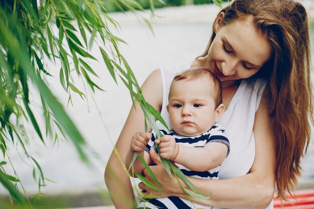
[[[128,169],[131,161],[133,159],[133,155],[135,153],[135,151],[138,152],[139,155],[141,155],[143,157],[143,159],[147,162],[147,164],[151,164],[151,159],[149,157],[149,154],[147,152],[144,151],[144,148],[146,146],[146,144],[148,143],[149,139],[151,138],[151,134],[150,133],[145,133],[142,131],[137,131],[131,140],[131,144],[130,144],[130,148],[126,154],[126,158],[125,158],[125,166]],[[136,157],[134,163],[133,163],[133,168],[134,168],[134,172],[137,173],[142,173],[144,170],[144,165],[141,163],[141,161],[138,159],[138,157]],[[133,172],[130,169],[129,173],[131,176],[133,176]],[[133,176],[136,177],[136,176]]]

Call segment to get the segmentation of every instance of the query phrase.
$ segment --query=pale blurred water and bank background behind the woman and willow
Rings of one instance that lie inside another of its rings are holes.
[[[137,2],[143,7],[148,7],[146,3],[148,1]],[[306,7],[309,19],[312,20],[314,1],[300,2]],[[111,12],[108,15],[120,24],[120,29],[116,30],[112,27],[111,30],[115,36],[127,43],[127,45],[120,44],[120,49],[140,85],[154,69],[165,65],[191,63],[202,54],[209,41],[212,21],[219,12],[216,5],[204,4],[208,3],[208,0],[172,0],[165,3],[167,7],[155,10],[155,17],[151,19],[152,31],[134,14],[115,13],[118,10],[115,5],[110,1],[106,3],[108,11]],[[155,7],[164,7],[164,5],[155,1]],[[150,19],[148,11],[140,15]],[[312,48],[314,46],[313,26],[314,22],[310,26]],[[98,48],[93,49],[91,54],[101,60]],[[30,153],[42,166],[45,177],[51,180],[47,180],[47,185],[41,188],[42,193],[49,194],[44,195],[43,200],[46,198],[48,199],[46,201],[53,202],[58,197],[61,199],[61,204],[69,207],[111,204],[104,183],[104,169],[131,107],[131,99],[126,87],[121,82],[116,85],[103,64],[98,62],[89,64],[99,75],[96,84],[105,91],[96,90],[93,96],[87,90],[85,100],[73,94],[73,106],[71,103],[68,104],[68,95],[61,87],[58,75],[54,75],[48,82],[54,90],[53,93],[64,104],[88,141],[93,164],[90,166],[84,164],[73,145],[67,141],[54,144],[52,138],[43,144],[38,139],[28,147]],[[312,81],[314,81],[313,77],[314,73],[312,73]],[[78,89],[85,92],[81,80],[76,79],[75,84]],[[36,101],[34,103],[36,104]],[[27,131],[30,138],[32,135],[37,138],[33,129]],[[309,151],[302,160],[303,173],[298,188],[314,188],[313,141],[312,137]],[[23,186],[30,193],[38,193],[32,167],[24,161],[23,151],[14,147],[10,150],[12,161]],[[0,185],[0,194],[7,194],[2,185]],[[47,203],[43,201],[43,204]]]

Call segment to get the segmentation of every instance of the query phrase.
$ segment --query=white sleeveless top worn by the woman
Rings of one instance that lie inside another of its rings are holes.
[[[160,68],[163,82],[163,106],[161,115],[171,128],[168,105],[170,84],[176,74],[190,68],[190,65],[165,66]],[[226,179],[245,175],[249,172],[255,156],[255,141],[253,126],[255,112],[265,89],[266,82],[262,79],[249,81],[243,79],[238,90],[230,101],[219,122],[226,128],[225,132],[230,141],[230,153],[223,161],[219,171],[219,178]],[[157,121],[160,129],[165,127]],[[273,208],[271,202],[267,209]],[[212,209],[219,209],[212,207]]]

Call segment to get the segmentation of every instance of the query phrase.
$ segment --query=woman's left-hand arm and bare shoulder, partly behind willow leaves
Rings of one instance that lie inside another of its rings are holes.
[[[144,81],[141,89],[145,100],[156,110],[160,111],[163,103],[163,86],[160,71],[153,71]],[[136,102],[135,107],[136,110],[132,106],[121,134],[115,144],[119,157],[115,151],[113,151],[105,170],[106,185],[116,209],[128,209],[136,206],[131,182],[119,160],[120,158],[122,163],[125,163],[126,153],[130,147],[133,134],[136,131],[145,131],[144,114]],[[147,131],[150,132],[151,128],[148,127]]]

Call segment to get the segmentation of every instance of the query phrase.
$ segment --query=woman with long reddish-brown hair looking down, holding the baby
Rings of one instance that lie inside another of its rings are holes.
[[[215,209],[272,208],[275,183],[278,195],[285,198],[284,190],[293,187],[300,175],[300,158],[310,138],[309,120],[313,122],[305,9],[290,0],[235,0],[222,9],[203,55],[190,65],[155,70],[142,85],[146,101],[166,121],[169,84],[177,72],[189,67],[208,68],[221,80],[227,110],[219,123],[226,127],[231,147],[220,180],[189,178],[211,196],[193,201]],[[123,160],[138,130],[144,131],[144,116],[137,105],[115,146]],[[140,183],[143,192],[184,197],[158,156],[152,152],[150,156],[158,164],[151,169],[167,187],[161,193]],[[133,208],[125,201],[133,199],[130,181],[114,153],[105,180],[116,208]]]

